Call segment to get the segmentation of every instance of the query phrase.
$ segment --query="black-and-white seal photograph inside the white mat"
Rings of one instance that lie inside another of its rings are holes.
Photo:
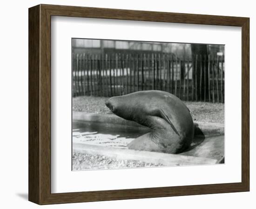
[[[72,39],[72,170],[222,164],[225,46]]]

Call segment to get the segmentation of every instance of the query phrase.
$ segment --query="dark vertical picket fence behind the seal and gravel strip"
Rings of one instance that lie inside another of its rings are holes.
[[[224,102],[224,57],[72,54],[73,96],[112,97],[162,90],[187,101]]]

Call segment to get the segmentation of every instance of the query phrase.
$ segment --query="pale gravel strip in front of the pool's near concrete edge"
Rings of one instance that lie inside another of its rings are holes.
[[[91,170],[91,169],[120,169],[136,167],[156,167],[162,164],[144,163],[135,160],[117,160],[100,155],[88,155],[74,153],[72,157],[73,170]]]

